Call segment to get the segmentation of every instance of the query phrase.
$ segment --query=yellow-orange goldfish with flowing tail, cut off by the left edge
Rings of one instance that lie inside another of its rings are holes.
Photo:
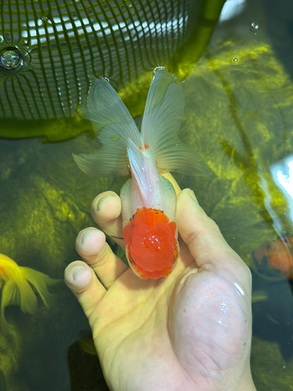
[[[57,280],[48,275],[32,268],[18,266],[8,256],[0,254],[0,328],[8,326],[4,314],[6,306],[19,305],[23,312],[29,314],[37,310],[37,297],[32,287],[37,290],[44,304],[48,306],[50,298],[48,285],[56,282]]]

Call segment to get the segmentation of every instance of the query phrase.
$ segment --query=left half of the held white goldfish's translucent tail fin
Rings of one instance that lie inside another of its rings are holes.
[[[90,175],[127,175],[127,139],[139,145],[141,136],[130,112],[106,79],[95,80],[82,112],[92,121],[102,146],[92,154],[74,154],[77,166]]]

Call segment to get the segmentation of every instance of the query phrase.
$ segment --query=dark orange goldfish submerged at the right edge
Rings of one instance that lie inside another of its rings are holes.
[[[256,273],[268,279],[293,278],[293,237],[266,242],[252,253]]]

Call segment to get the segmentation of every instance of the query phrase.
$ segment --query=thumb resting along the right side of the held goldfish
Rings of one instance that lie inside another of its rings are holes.
[[[227,244],[218,225],[199,206],[192,190],[182,190],[178,195],[176,215],[180,236],[199,268],[217,272],[225,269],[237,278],[241,274],[243,280],[244,269],[249,271],[246,264]]]

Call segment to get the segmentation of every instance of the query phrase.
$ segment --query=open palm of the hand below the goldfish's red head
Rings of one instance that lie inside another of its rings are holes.
[[[211,389],[220,372],[225,378],[242,359],[249,306],[239,305],[230,281],[197,273],[182,247],[168,278],[140,280],[125,271],[89,316],[113,389]]]

